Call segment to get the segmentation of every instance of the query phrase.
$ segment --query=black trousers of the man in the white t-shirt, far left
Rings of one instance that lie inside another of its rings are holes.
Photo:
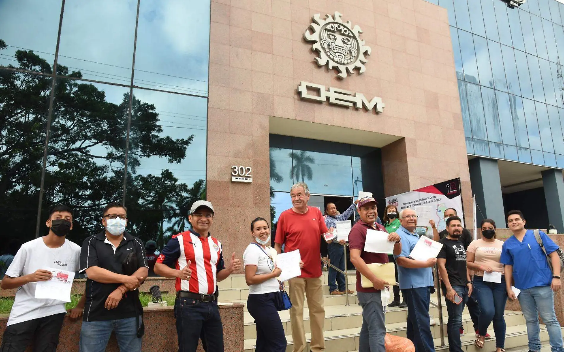
[[[55,352],[65,314],[53,314],[9,325],[4,331],[0,351],[23,352],[32,345],[33,352]]]

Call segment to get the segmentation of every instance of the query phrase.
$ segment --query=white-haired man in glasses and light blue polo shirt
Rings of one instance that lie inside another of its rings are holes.
[[[429,302],[433,283],[433,269],[437,258],[416,261],[409,257],[419,236],[416,235],[417,214],[415,210],[403,209],[399,213],[402,226],[398,235],[402,239],[402,253],[394,256],[398,264],[399,288],[407,303],[407,338],[415,345],[416,352],[434,352],[433,335],[429,327]]]

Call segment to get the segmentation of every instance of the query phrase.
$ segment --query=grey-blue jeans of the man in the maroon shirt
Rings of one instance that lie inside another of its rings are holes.
[[[358,302],[362,306],[362,328],[360,328],[358,351],[385,352],[386,325],[380,291],[357,294]]]

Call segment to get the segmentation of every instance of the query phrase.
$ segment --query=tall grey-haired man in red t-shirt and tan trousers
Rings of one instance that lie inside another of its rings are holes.
[[[321,280],[321,236],[327,229],[323,215],[319,208],[307,206],[310,191],[307,184],[298,182],[290,188],[292,197],[291,209],[285,210],[276,225],[276,252],[292,252],[299,249],[302,257],[302,275],[288,280],[290,284],[289,296],[292,301],[290,308],[290,323],[292,323],[292,338],[294,352],[302,352],[306,348],[306,333],[303,329],[303,302],[307,296],[310,311],[311,343],[313,352],[323,351],[323,323],[325,322],[325,308],[323,307],[323,281]]]

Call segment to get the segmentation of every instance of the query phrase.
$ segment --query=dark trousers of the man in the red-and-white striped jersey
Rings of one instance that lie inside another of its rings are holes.
[[[196,352],[200,338],[206,352],[223,352],[223,325],[217,301],[178,297],[174,302],[174,317],[179,352]]]

